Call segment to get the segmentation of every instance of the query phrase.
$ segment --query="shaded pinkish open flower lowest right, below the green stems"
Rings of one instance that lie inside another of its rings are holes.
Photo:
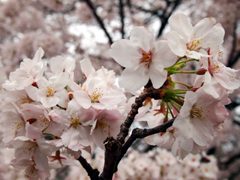
[[[173,127],[184,137],[182,139],[206,147],[213,141],[219,125],[227,118],[228,113],[224,108],[226,103],[226,97],[218,100],[201,90],[187,92]],[[184,143],[189,144],[186,141]]]

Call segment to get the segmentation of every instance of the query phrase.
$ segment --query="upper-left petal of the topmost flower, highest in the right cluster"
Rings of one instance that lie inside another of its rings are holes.
[[[170,28],[176,31],[182,38],[190,40],[193,33],[193,26],[188,16],[182,13],[172,15],[169,20]]]

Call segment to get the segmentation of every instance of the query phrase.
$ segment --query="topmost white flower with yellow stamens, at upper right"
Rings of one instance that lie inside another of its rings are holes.
[[[217,53],[223,43],[225,31],[214,18],[204,18],[193,26],[189,17],[177,13],[169,18],[169,25],[168,45],[180,57],[199,59],[208,56],[208,49]]]

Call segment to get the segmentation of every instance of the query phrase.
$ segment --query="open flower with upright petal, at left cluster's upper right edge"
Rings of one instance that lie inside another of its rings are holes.
[[[79,86],[71,83],[74,99],[83,108],[117,109],[118,105],[125,102],[123,90],[116,85],[116,77],[113,71],[101,68],[97,71],[93,68],[89,59],[81,61],[81,68],[87,79]]]

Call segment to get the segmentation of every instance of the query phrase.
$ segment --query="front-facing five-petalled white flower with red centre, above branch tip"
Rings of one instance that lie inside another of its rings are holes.
[[[130,92],[143,87],[149,79],[154,88],[161,87],[167,78],[164,68],[177,60],[166,41],[154,42],[153,35],[143,27],[135,27],[130,40],[122,39],[113,43],[109,53],[125,67],[119,83]]]

